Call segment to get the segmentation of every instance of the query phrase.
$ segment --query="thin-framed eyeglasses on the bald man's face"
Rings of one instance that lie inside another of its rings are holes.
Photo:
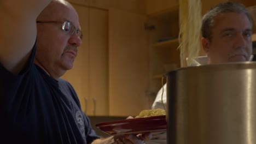
[[[83,38],[83,33],[75,28],[75,26],[69,21],[37,21],[37,23],[62,23],[62,30],[70,35],[73,35],[74,32],[77,33],[80,39]]]

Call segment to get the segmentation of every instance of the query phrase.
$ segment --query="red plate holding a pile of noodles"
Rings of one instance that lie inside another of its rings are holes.
[[[109,135],[141,134],[166,131],[166,117],[153,116],[98,123],[96,127]]]

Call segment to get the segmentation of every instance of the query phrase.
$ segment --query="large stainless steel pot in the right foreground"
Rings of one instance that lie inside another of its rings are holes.
[[[255,74],[255,62],[167,73],[167,143],[256,143]]]

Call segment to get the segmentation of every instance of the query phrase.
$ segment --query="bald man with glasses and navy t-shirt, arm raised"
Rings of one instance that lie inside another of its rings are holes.
[[[48,5],[48,6],[47,6]],[[151,133],[101,138],[60,77],[82,44],[64,0],[0,0],[0,137],[3,143],[136,143]]]

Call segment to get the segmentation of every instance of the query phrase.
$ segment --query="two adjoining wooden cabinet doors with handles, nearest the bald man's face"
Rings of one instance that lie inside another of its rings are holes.
[[[82,110],[90,116],[108,115],[108,11],[73,4],[84,34],[74,67],[63,79],[78,94]]]

